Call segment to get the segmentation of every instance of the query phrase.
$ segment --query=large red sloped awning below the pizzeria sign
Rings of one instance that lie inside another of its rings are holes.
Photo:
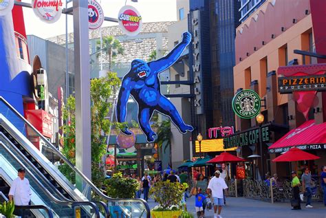
[[[326,149],[326,122],[315,124],[314,120],[308,120],[289,131],[268,150],[270,153],[279,153],[289,150],[292,146],[298,146],[298,149],[302,150]]]

